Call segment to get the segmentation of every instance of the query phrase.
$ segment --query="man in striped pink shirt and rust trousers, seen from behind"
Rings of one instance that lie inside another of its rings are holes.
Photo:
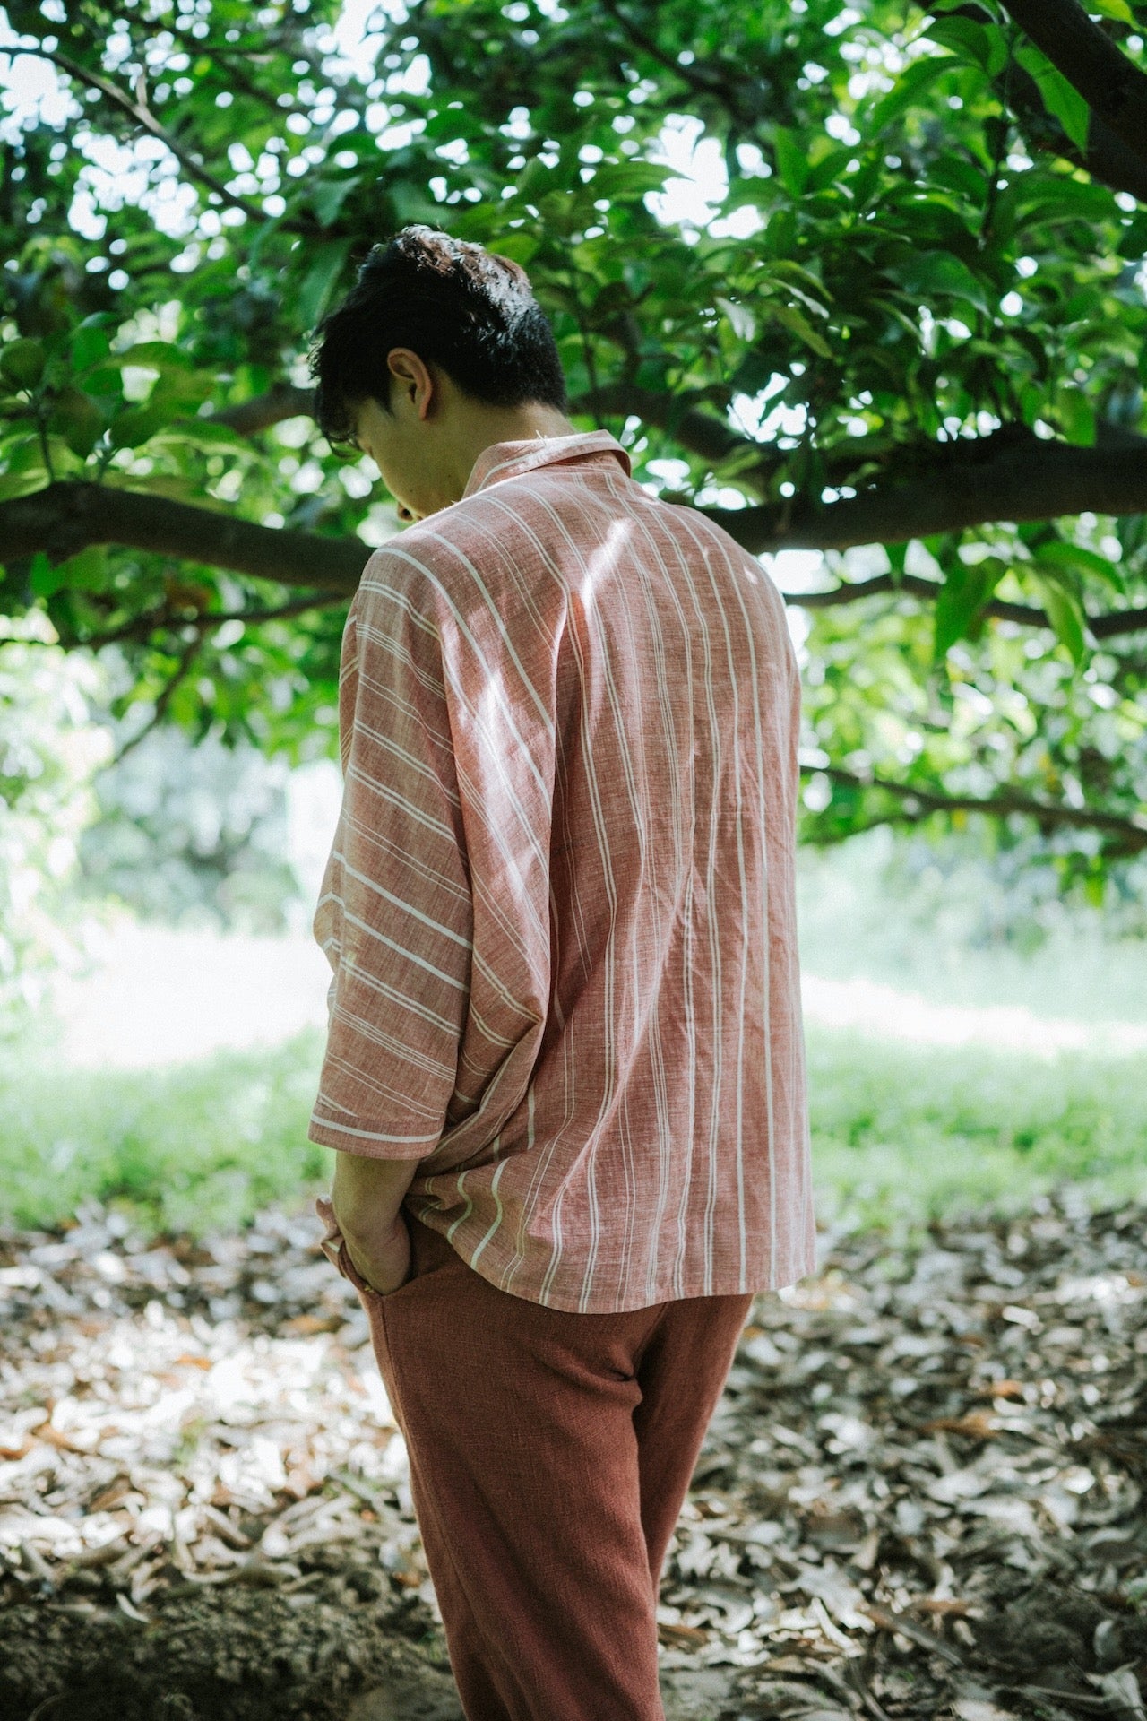
[[[660,1721],[705,1427],[813,1258],[782,602],[574,432],[506,258],[402,231],[313,370],[411,521],[344,638],[325,1248],[469,1721]]]

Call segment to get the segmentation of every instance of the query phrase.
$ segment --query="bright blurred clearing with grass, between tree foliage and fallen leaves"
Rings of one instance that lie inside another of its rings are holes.
[[[196,1232],[308,1200],[337,764],[170,728],[112,764],[105,669],[10,640],[0,678],[26,783],[0,807],[7,1213],[95,1196]],[[1142,898],[1064,900],[985,833],[882,826],[801,848],[800,916],[824,1222],[1147,1191]]]

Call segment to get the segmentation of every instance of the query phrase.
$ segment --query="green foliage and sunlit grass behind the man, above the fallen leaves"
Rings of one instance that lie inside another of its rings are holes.
[[[997,0],[120,10],[0,14],[0,1218],[328,1175],[337,652],[397,521],[306,341],[409,220],[526,263],[578,425],[789,601],[822,1217],[1145,1194],[1147,534],[1076,492],[1147,430],[1147,163]],[[1142,67],[1137,10],[1090,9]],[[1015,451],[1070,515],[908,540]]]

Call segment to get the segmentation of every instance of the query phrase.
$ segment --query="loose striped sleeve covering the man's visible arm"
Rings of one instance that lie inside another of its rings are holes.
[[[308,1134],[351,1153],[421,1160],[442,1136],[457,1079],[469,866],[433,616],[408,583],[370,571],[342,642],[342,809],[315,914],[334,978]]]

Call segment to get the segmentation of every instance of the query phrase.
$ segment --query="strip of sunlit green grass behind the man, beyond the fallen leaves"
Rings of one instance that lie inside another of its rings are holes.
[[[332,1155],[306,1141],[322,1039],[169,1070],[0,1064],[0,1217],[50,1227],[89,1198],[148,1231],[237,1227],[303,1203]],[[915,1229],[1063,1184],[1147,1198],[1147,1057],[1035,1058],[810,1031],[813,1172],[824,1218]]]

